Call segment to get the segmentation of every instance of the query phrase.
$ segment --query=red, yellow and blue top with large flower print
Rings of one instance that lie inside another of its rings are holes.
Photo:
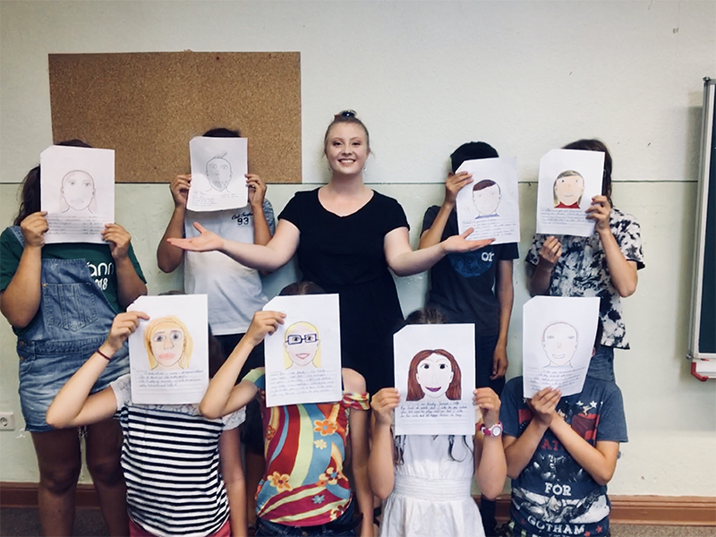
[[[244,380],[265,389],[264,368]],[[256,514],[276,524],[312,526],[341,516],[351,502],[344,473],[350,409],[368,410],[368,394],[344,392],[337,403],[263,405],[266,473]]]

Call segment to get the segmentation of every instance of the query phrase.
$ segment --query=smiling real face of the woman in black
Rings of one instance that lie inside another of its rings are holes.
[[[337,175],[362,173],[371,152],[365,131],[352,123],[334,124],[328,131],[325,150],[328,166]]]

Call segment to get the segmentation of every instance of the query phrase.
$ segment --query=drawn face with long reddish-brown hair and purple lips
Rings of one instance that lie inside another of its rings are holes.
[[[424,350],[408,368],[408,401],[456,401],[462,396],[462,374],[455,356],[444,349]]]

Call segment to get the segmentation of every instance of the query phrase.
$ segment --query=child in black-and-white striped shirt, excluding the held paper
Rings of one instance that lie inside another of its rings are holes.
[[[142,319],[149,316],[141,311],[115,317],[107,340],[55,397],[47,422],[78,427],[119,413],[130,537],[245,536],[238,433],[243,409],[209,420],[200,415],[197,405],[138,405],[132,403],[128,374],[90,395]],[[209,331],[209,374],[222,361],[221,347]]]

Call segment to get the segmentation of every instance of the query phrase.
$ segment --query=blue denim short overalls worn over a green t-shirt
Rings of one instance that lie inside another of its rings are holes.
[[[11,228],[24,246],[19,226]],[[107,339],[116,312],[90,277],[86,260],[42,260],[38,313],[18,337],[20,403],[25,430],[52,430],[45,422],[57,392]],[[127,346],[112,358],[92,393],[129,372]]]

